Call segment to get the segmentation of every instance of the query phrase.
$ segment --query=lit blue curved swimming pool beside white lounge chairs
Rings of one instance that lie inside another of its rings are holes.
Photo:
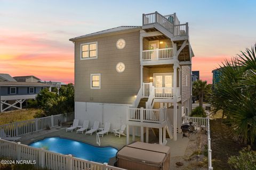
[[[59,137],[44,138],[29,146],[64,155],[71,154],[74,157],[98,163],[108,163],[109,158],[116,156],[117,152],[117,149],[113,147],[95,147],[84,142]]]

